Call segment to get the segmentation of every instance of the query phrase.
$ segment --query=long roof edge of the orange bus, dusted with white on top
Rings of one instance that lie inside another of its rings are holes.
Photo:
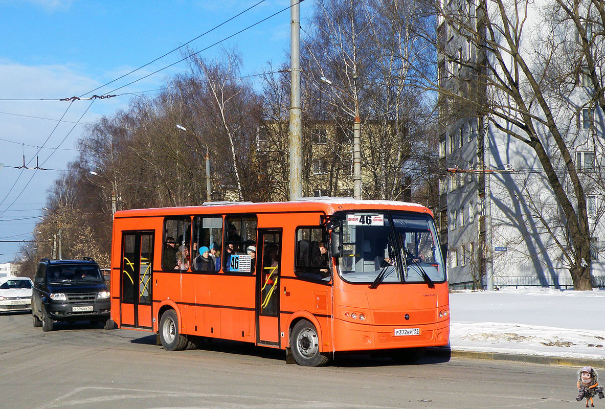
[[[432,212],[422,204],[394,200],[355,200],[341,197],[301,198],[294,201],[280,202],[206,202],[200,206],[183,206],[174,208],[132,209],[117,211],[115,218],[164,216],[185,214],[219,214],[219,213],[266,213],[266,212],[309,212],[317,211],[333,214],[347,210],[402,210],[411,212]]]

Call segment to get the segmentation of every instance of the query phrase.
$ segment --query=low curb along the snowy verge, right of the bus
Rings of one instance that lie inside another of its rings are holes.
[[[562,356],[522,355],[503,352],[479,352],[450,350],[449,348],[427,348],[427,352],[436,356],[450,356],[451,358],[488,359],[490,361],[526,362],[528,364],[558,365],[568,367],[584,367],[590,365],[597,369],[605,368],[605,359],[595,358],[566,358]]]

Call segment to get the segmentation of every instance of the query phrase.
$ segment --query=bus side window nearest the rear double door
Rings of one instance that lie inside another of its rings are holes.
[[[166,218],[162,246],[162,269],[187,270],[191,243],[191,217]]]

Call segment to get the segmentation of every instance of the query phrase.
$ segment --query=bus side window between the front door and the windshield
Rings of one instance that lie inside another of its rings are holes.
[[[330,259],[327,253],[327,235],[322,227],[298,227],[296,229],[297,277],[310,281],[330,279]]]

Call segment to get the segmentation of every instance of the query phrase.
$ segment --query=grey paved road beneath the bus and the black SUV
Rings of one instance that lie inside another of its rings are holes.
[[[2,313],[0,407],[583,407],[573,367],[437,357],[396,365],[356,355],[306,368],[284,356],[235,342],[167,352],[146,332],[76,323],[45,333],[28,314]]]

